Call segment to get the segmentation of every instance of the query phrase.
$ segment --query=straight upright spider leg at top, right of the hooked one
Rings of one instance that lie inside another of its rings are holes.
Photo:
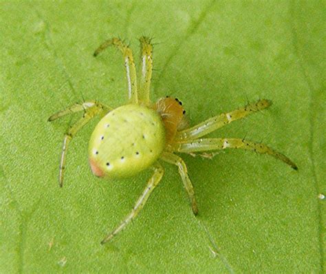
[[[142,36],[139,39],[141,45],[141,73],[139,84],[139,100],[149,105],[149,92],[153,70],[153,45],[149,37]]]

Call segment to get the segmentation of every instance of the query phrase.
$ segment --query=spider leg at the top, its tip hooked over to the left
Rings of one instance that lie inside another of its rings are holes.
[[[128,99],[130,103],[138,103],[138,94],[137,94],[137,75],[135,72],[135,63],[133,62],[133,53],[131,49],[124,45],[124,43],[118,38],[112,38],[100,45],[98,49],[94,52],[94,56],[98,56],[100,52],[105,50],[110,45],[115,46],[122,52],[124,67],[126,67],[127,72],[127,82],[128,82]]]

